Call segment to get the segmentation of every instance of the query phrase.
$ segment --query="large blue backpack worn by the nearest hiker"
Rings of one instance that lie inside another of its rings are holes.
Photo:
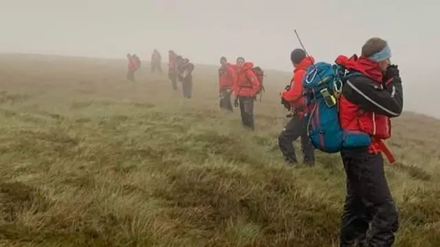
[[[305,73],[303,89],[306,110],[304,121],[314,147],[322,152],[336,153],[343,148],[369,146],[369,134],[344,131],[339,121],[338,98],[342,85],[352,75],[338,64],[318,62]]]

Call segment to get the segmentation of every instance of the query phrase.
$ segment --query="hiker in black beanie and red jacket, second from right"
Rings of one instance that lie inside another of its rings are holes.
[[[278,136],[278,146],[287,163],[294,164],[298,160],[295,154],[293,142],[301,138],[301,146],[303,149],[303,163],[314,165],[315,149],[311,144],[307,135],[305,124],[303,123],[303,115],[305,110],[305,99],[303,97],[303,78],[306,70],[315,62],[312,56],[306,56],[303,49],[294,49],[290,54],[290,60],[294,64],[294,75],[290,82],[290,86],[281,92],[281,101],[289,110],[292,110],[292,118],[283,128]]]

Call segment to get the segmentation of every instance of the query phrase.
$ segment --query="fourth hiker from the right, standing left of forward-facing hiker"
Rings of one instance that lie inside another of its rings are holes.
[[[224,56],[220,58],[219,68],[219,98],[220,108],[234,111],[231,103],[232,86],[235,83],[235,71]]]

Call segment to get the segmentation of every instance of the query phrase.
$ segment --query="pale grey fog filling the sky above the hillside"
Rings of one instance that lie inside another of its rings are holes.
[[[299,47],[331,62],[360,53],[371,36],[388,41],[404,80],[405,110],[440,117],[437,57],[440,1],[398,0],[0,0],[0,52],[149,59],[174,49],[192,62],[243,56],[291,71]],[[436,25],[437,24],[437,25]]]

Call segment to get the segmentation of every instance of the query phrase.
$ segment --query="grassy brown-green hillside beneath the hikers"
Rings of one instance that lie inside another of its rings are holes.
[[[218,109],[215,68],[197,67],[188,100],[125,67],[1,56],[0,246],[336,246],[339,156],[286,167],[278,152],[288,73],[269,73],[248,132]],[[440,246],[440,121],[393,124],[395,246]]]

